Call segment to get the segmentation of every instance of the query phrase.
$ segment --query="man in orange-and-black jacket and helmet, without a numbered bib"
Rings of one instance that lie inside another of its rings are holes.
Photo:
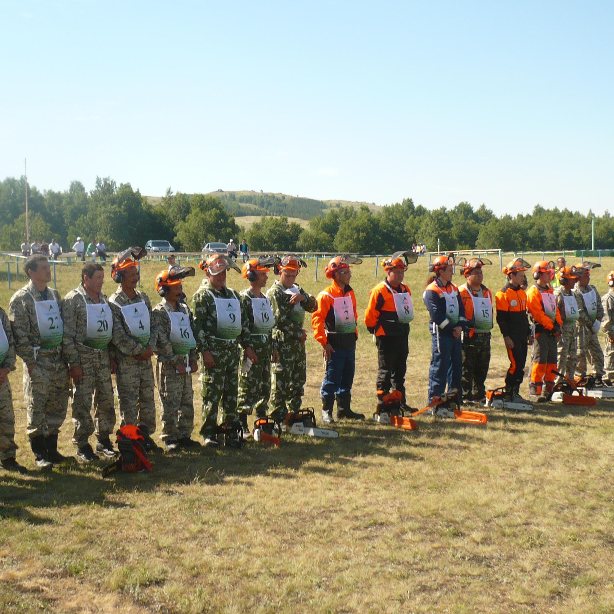
[[[524,365],[527,361],[529,344],[533,343],[527,317],[527,295],[522,288],[526,281],[524,271],[530,264],[523,258],[516,258],[503,267],[507,282],[495,294],[497,325],[503,335],[503,343],[510,359],[505,375],[505,387],[511,392],[512,400],[522,402],[520,386],[524,379]]]

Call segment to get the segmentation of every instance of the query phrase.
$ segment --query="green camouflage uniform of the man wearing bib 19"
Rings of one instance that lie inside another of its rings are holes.
[[[256,418],[264,418],[268,412],[268,400],[271,395],[271,352],[274,349],[273,333],[257,334],[254,330],[254,311],[252,311],[252,298],[255,295],[250,290],[241,292],[243,306],[249,318],[252,349],[258,357],[247,375],[239,370],[239,413],[251,415],[253,411]],[[265,298],[263,295],[262,298]],[[245,353],[241,355],[241,367],[245,361]]]

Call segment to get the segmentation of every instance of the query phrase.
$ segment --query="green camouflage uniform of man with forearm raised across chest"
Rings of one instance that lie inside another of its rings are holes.
[[[291,295],[281,281],[276,280],[266,293],[271,301],[275,326],[273,339],[277,344],[278,362],[273,370],[273,386],[271,394],[271,416],[278,421],[284,421],[289,411],[301,408],[301,398],[305,392],[307,381],[307,357],[303,336],[303,321],[305,311],[313,313],[317,309],[316,298],[294,286],[305,296],[305,300],[297,305],[290,305]]]

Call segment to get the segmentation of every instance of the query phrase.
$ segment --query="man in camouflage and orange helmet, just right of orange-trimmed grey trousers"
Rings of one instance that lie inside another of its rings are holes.
[[[559,258],[560,260],[560,258]],[[557,260],[558,262],[558,260]],[[578,346],[576,337],[578,335],[578,317],[580,316],[581,301],[573,292],[573,287],[578,281],[581,271],[578,271],[575,266],[559,267],[556,272],[558,287],[554,290],[556,297],[556,305],[561,314],[563,325],[561,327],[561,336],[558,338],[558,355],[556,361],[556,370],[567,379],[575,378],[575,367],[577,362]],[[558,376],[556,382],[559,383],[562,377]]]

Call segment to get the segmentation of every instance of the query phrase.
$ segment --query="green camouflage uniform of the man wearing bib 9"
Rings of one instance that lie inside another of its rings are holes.
[[[241,333],[236,339],[221,339],[216,337],[217,309],[215,298],[235,298],[241,309]],[[201,395],[203,397],[203,427],[201,435],[204,438],[215,437],[221,424],[236,420],[237,389],[239,385],[239,344],[249,348],[249,319],[238,292],[223,287],[216,290],[204,279],[200,288],[192,297],[192,313],[194,314],[194,336],[198,351],[211,352],[216,366],[201,367]],[[218,408],[222,410],[218,415]]]

